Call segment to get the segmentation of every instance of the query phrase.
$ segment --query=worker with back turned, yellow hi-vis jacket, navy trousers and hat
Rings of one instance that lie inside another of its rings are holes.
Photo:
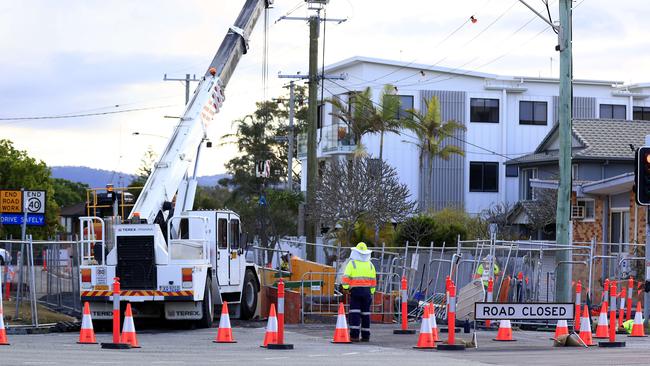
[[[353,342],[370,341],[370,305],[377,286],[375,266],[370,262],[371,253],[365,243],[352,248],[341,280],[343,289],[350,291],[350,339]]]

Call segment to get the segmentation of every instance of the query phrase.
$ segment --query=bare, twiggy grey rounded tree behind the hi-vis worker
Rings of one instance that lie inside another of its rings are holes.
[[[312,214],[330,230],[340,227],[350,245],[355,225],[367,219],[375,225],[404,220],[413,211],[406,185],[395,169],[362,158],[326,165],[316,187]]]

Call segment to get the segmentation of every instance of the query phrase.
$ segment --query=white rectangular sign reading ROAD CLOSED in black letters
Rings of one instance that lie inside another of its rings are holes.
[[[572,320],[575,304],[572,303],[494,303],[477,302],[476,320]]]

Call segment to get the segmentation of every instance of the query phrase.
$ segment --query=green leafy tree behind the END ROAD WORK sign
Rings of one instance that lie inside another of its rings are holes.
[[[43,161],[30,157],[26,151],[18,150],[10,140],[0,140],[0,188],[43,190],[46,193],[45,226],[29,227],[28,233],[36,238],[46,238],[58,230],[59,205],[54,200],[54,185],[50,169]],[[20,226],[2,225],[0,236],[20,236]]]

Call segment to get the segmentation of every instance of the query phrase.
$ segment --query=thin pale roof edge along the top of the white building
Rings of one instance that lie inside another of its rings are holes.
[[[530,77],[530,76],[506,76],[506,75],[497,75],[497,74],[488,74],[484,72],[463,70],[459,68],[451,68],[444,66],[435,66],[435,65],[426,65],[426,64],[417,64],[414,62],[406,61],[395,61],[375,57],[365,57],[365,56],[353,56],[339,62],[325,66],[325,72],[339,72],[341,69],[351,67],[361,63],[370,63],[370,64],[379,64],[387,66],[396,66],[401,69],[415,69],[415,70],[427,70],[435,71],[440,73],[447,74],[456,74],[456,75],[465,75],[465,76],[474,76],[485,79],[498,79],[505,81],[517,81],[517,82],[542,82],[542,83],[559,83],[559,79],[555,78],[542,78],[542,77]],[[582,85],[605,85],[612,86],[615,84],[622,85],[622,81],[612,81],[612,80],[587,80],[587,79],[575,79],[573,80],[574,84]]]

